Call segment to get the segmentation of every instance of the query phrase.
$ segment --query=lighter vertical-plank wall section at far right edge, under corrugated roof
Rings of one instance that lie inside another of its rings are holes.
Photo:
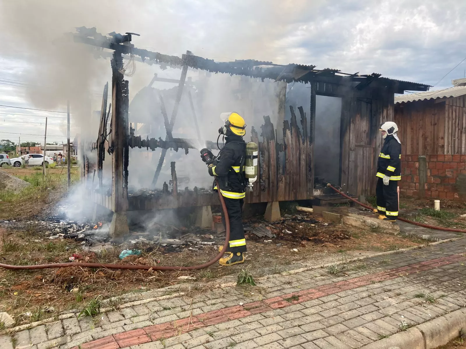
[[[464,95],[445,100],[445,154],[466,154],[466,96]]]

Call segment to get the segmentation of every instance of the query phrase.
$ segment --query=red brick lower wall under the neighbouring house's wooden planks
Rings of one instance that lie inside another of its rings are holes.
[[[418,155],[401,155],[400,193],[419,195]],[[426,155],[427,182],[425,197],[464,201],[456,186],[458,175],[466,175],[466,155]]]

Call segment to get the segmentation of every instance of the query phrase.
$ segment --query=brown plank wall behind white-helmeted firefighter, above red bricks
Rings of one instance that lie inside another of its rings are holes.
[[[452,114],[456,114],[456,110]],[[446,120],[452,121],[448,118]],[[448,130],[445,129],[445,102],[397,103],[393,121],[398,125],[402,154],[445,154],[448,142],[445,137],[445,132]],[[451,129],[451,126],[449,128]]]

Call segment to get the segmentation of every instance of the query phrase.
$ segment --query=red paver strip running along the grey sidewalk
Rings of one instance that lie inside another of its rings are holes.
[[[415,274],[419,271],[425,271],[439,266],[466,260],[466,256],[449,255],[430,261],[411,264],[406,267],[382,271],[376,274],[364,275],[353,279],[340,282],[332,282],[326,285],[316,287],[315,289],[304,289],[299,292],[289,293],[272,298],[267,298],[262,301],[251,302],[243,305],[235,305],[224,309],[209,311],[185,319],[180,319],[173,322],[164,322],[158,325],[144,327],[142,329],[133,329],[119,333],[117,335],[107,336],[96,341],[88,342],[81,345],[81,349],[119,349],[126,348],[131,345],[157,341],[161,338],[169,338],[178,336],[183,333],[192,331],[196,328],[208,325],[215,325],[221,322],[240,319],[249,315],[260,314],[272,309],[279,309],[308,302],[313,299],[321,298],[326,295],[333,295],[349,289],[367,286],[373,282],[382,282],[396,279],[397,277],[409,274]],[[295,299],[295,298],[298,299]],[[293,298],[293,299],[292,299]],[[74,347],[72,349],[78,349]]]

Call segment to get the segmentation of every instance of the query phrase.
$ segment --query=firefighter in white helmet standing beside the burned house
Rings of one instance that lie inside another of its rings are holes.
[[[377,161],[377,209],[379,219],[396,221],[398,218],[398,181],[401,180],[401,142],[397,136],[398,127],[393,121],[380,126],[384,144]]]

